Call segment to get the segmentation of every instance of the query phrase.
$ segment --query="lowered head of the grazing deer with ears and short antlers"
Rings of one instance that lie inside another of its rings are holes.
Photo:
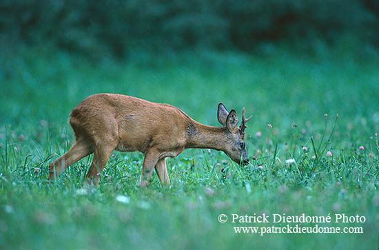
[[[245,128],[247,121],[252,118],[245,118],[245,107],[242,111],[242,121],[238,127],[238,117],[235,110],[227,111],[223,103],[218,104],[217,112],[218,122],[225,127],[225,141],[223,152],[232,160],[240,164],[241,159],[243,165],[249,164],[245,149]]]

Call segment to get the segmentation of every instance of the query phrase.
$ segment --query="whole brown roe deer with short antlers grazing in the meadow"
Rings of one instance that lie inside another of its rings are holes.
[[[217,118],[223,127],[198,123],[177,107],[152,103],[121,94],[94,94],[70,113],[75,143],[49,165],[49,180],[68,166],[94,153],[87,174],[89,183],[99,184],[99,173],[116,149],[145,154],[139,185],[149,184],[155,168],[161,185],[169,185],[165,158],[176,157],[187,148],[222,150],[232,160],[249,164],[245,149],[245,107],[240,127],[235,110],[218,105]]]

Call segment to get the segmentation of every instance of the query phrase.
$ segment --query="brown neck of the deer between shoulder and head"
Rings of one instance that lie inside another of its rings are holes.
[[[196,121],[187,123],[186,148],[223,150],[225,127],[212,127]]]

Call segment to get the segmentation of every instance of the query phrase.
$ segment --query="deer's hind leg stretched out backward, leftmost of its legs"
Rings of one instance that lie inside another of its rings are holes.
[[[85,140],[79,138],[68,150],[68,152],[55,160],[54,163],[50,163],[48,180],[53,180],[68,166],[76,163],[78,160],[81,160],[81,158],[84,158],[89,154],[92,154],[91,145],[85,142]]]

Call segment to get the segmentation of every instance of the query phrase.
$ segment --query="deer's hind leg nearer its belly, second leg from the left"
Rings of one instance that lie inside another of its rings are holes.
[[[113,150],[116,149],[118,143],[107,143],[105,145],[97,145],[94,147],[94,160],[92,161],[90,170],[87,173],[87,181],[93,185],[99,185],[100,173],[103,171],[107,161]]]

